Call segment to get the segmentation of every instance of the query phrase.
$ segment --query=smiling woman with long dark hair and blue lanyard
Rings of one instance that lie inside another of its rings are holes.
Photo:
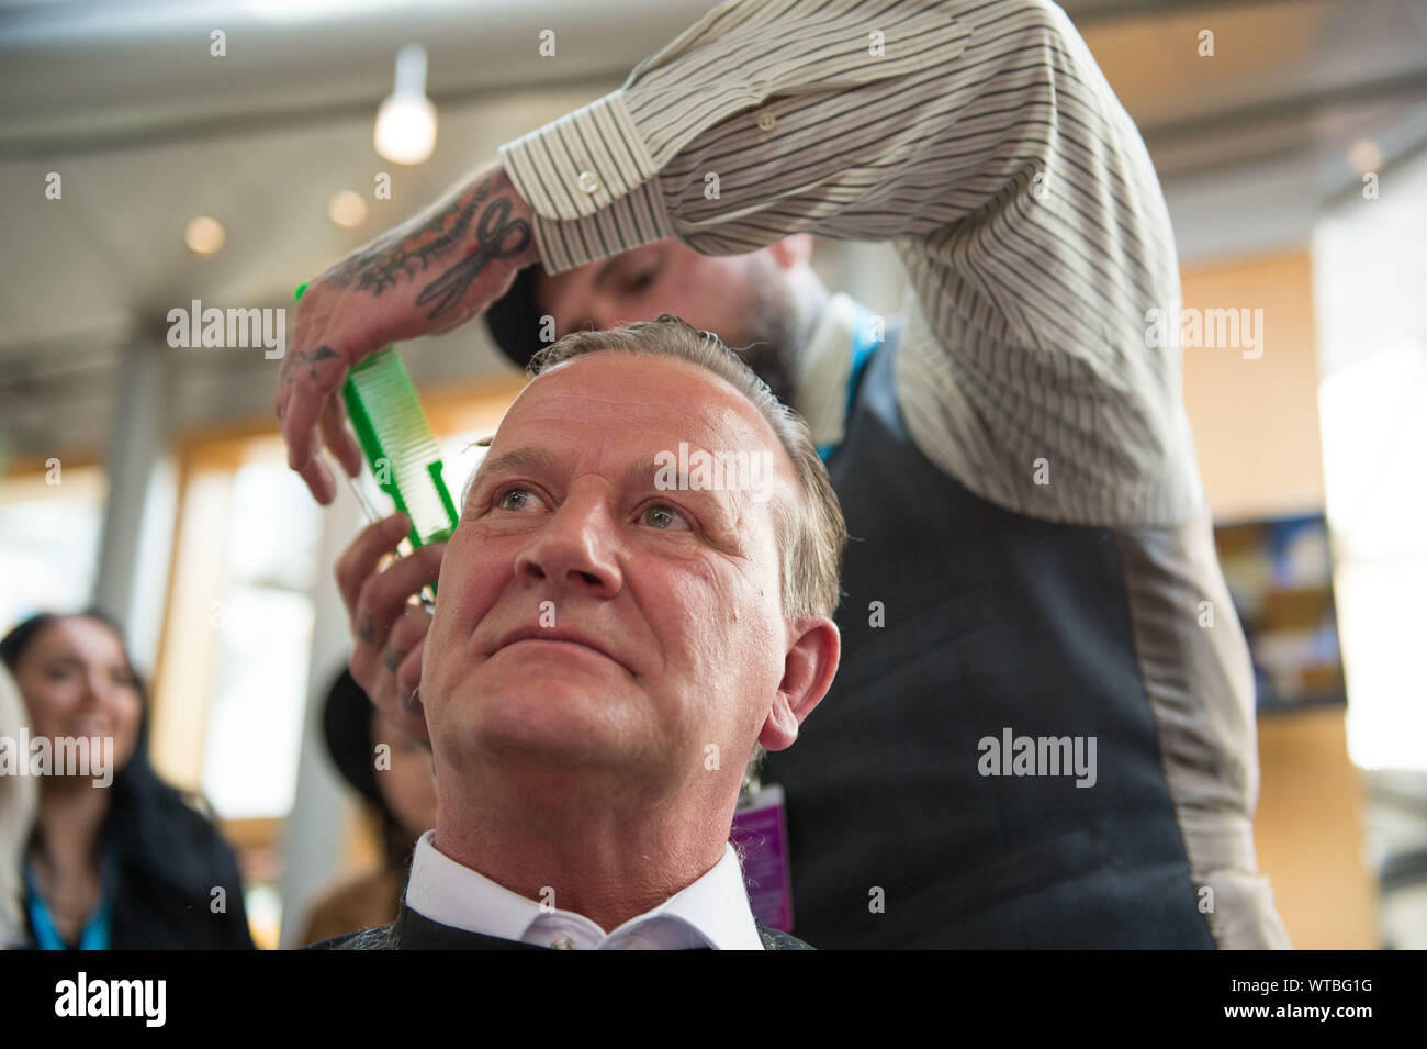
[[[251,949],[233,849],[148,762],[148,699],[118,627],[94,611],[40,614],[0,641],[0,662],[31,739],[113,739],[107,788],[98,775],[39,781],[23,862],[30,945]]]

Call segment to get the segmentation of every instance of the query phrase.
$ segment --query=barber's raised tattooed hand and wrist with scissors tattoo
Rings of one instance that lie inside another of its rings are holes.
[[[308,284],[273,407],[287,464],[318,502],[337,494],[318,431],[342,470],[352,477],[361,470],[341,398],[347,370],[388,343],[485,313],[537,261],[534,216],[497,161]]]

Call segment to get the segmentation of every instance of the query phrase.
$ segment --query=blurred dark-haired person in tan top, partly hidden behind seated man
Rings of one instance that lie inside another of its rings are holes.
[[[417,838],[437,824],[431,751],[381,716],[347,671],[327,694],[323,732],[337,771],[365,802],[381,838],[381,863],[317,899],[303,943],[394,921]],[[388,749],[378,752],[381,744]]]

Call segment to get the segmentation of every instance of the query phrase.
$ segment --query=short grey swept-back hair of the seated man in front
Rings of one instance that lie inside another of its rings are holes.
[[[781,402],[768,384],[723,345],[718,335],[699,331],[666,313],[659,314],[658,320],[638,321],[622,328],[571,333],[537,353],[527,373],[534,378],[558,364],[608,350],[675,357],[696,364],[722,378],[758,410],[792,461],[798,480],[795,505],[783,505],[783,500],[772,502],[783,615],[788,619],[803,615],[831,617],[838,609],[848,525],[828,468],[818,455],[812,432],[802,417]],[[756,771],[762,755],[763,748],[755,744],[749,776]]]

